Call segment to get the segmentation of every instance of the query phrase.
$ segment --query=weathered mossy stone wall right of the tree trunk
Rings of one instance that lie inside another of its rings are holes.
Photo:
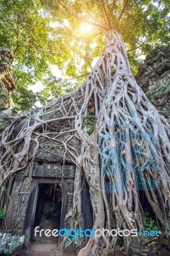
[[[162,46],[146,56],[135,77],[150,102],[164,116],[170,114],[170,50]]]

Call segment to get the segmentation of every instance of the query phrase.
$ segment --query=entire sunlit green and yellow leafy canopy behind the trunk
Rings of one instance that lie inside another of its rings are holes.
[[[169,40],[169,5],[166,0],[0,0],[0,45],[13,51],[17,109],[27,110],[37,99],[44,104],[82,83],[100,57],[108,29],[121,33],[135,74],[139,56]],[[50,65],[76,80],[67,85],[52,76]],[[44,90],[34,94],[28,86],[37,81]]]

